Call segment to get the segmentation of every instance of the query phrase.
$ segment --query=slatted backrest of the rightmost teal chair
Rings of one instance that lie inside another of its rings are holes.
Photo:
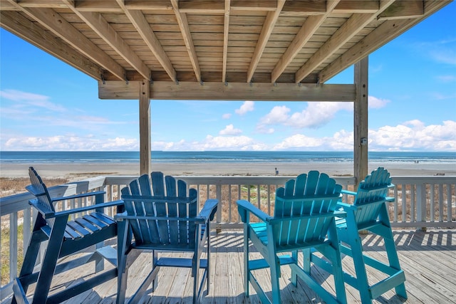
[[[355,214],[358,225],[377,219],[391,186],[390,173],[383,167],[375,169],[359,184],[353,201],[353,205],[358,206]]]

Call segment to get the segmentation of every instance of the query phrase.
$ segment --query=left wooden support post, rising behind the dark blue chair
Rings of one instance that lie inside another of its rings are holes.
[[[150,85],[140,82],[140,175],[150,174]]]

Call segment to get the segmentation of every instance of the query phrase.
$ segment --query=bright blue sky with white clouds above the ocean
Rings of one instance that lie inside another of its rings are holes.
[[[456,3],[369,56],[369,150],[456,152]],[[138,100],[0,29],[0,150],[139,150]],[[353,83],[353,67],[328,83]],[[151,100],[152,150],[353,150],[352,103]]]

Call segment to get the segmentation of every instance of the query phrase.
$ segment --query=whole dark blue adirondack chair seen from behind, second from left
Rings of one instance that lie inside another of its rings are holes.
[[[217,199],[205,201],[199,211],[196,189],[174,177],[163,177],[162,172],[152,172],[133,180],[129,187],[122,189],[125,212],[118,214],[118,297],[117,303],[125,302],[127,289],[128,253],[133,249],[152,251],[152,268],[140,285],[130,303],[136,303],[152,283],[152,292],[157,287],[157,273],[160,267],[191,268],[193,282],[193,303],[202,298],[204,282],[209,293],[210,221],[217,211]],[[133,238],[132,239],[132,234]],[[160,257],[160,251],[181,251],[193,253],[192,258]],[[207,258],[202,258],[205,251]],[[134,255],[132,255],[134,256]],[[138,256],[134,256],[136,258]],[[132,260],[132,258],[130,258]],[[200,275],[199,270],[203,273]],[[182,282],[185,283],[185,282]]]

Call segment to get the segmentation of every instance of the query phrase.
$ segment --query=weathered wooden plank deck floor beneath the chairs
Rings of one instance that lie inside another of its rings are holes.
[[[400,263],[405,271],[408,300],[406,303],[456,303],[456,230],[394,231]],[[367,234],[363,243],[369,254],[384,257],[383,242]],[[177,253],[178,254],[178,253]],[[259,253],[252,253],[259,254]],[[202,303],[259,303],[251,288],[252,295],[244,296],[242,287],[242,231],[222,231],[212,237],[211,290]],[[343,257],[346,269],[352,271],[351,258]],[[140,278],[150,268],[150,253],[141,253],[140,258],[130,268],[127,297],[133,288],[138,288]],[[135,272],[136,270],[136,272]],[[282,268],[281,297],[284,303],[320,303],[321,300],[309,290],[302,281],[295,288],[289,282],[289,268]],[[62,273],[61,279],[68,276],[85,276],[84,269]],[[331,288],[332,278],[319,268],[313,267],[326,288]],[[372,280],[375,281],[373,273]],[[267,283],[269,272],[258,271],[258,280]],[[53,289],[61,288],[61,281],[53,282]],[[270,290],[270,287],[269,287]],[[348,303],[361,303],[359,295],[351,286],[346,285]],[[115,303],[116,281],[111,280],[86,293],[78,295],[67,303]],[[192,280],[190,271],[177,268],[162,268],[159,273],[159,285],[154,293],[147,293],[143,303],[191,303]],[[374,301],[374,303],[403,303],[392,291]]]

